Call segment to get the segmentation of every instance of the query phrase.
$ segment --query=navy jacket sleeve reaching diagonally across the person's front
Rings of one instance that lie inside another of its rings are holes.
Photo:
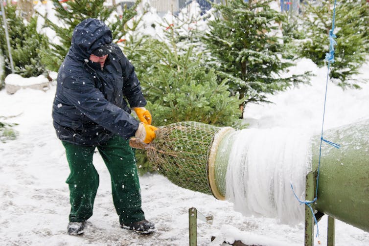
[[[136,133],[139,122],[106,100],[91,80],[70,75],[63,80],[62,88],[70,103],[95,123],[125,139]]]

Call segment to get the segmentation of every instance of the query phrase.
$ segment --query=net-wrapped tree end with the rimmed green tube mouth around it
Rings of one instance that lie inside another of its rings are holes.
[[[133,139],[130,144],[146,149],[150,163],[174,184],[225,200],[227,153],[233,132],[231,127],[178,122],[160,127],[149,145]]]

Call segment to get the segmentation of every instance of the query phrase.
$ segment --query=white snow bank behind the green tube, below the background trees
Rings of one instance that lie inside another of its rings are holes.
[[[311,85],[300,85],[286,93],[268,96],[269,104],[248,104],[244,118],[250,128],[269,129],[287,127],[293,129],[313,129],[320,132],[323,120],[324,93],[327,67],[319,68],[309,59],[301,59],[294,73],[312,71]],[[369,118],[369,63],[364,64],[357,76],[362,89],[342,89],[328,82],[324,130],[347,125]]]

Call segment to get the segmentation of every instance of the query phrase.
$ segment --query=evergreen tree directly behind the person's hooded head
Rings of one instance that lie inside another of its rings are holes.
[[[50,48],[42,50],[42,61],[47,68],[58,71],[68,53],[74,27],[87,18],[96,18],[105,22],[112,30],[113,39],[119,40],[131,28],[127,22],[136,14],[136,8],[141,0],[137,0],[135,5],[123,12],[122,16],[114,15],[115,6],[105,6],[104,0],[69,0],[60,3],[59,0],[52,0],[55,6],[55,16],[62,24],[53,23],[45,16],[45,24],[56,32],[60,43],[51,44]],[[111,18],[111,22],[108,22]]]

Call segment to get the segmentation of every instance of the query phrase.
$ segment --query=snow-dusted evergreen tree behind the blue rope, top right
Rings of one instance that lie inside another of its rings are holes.
[[[329,52],[329,30],[332,28],[333,1],[322,0],[318,6],[307,4],[304,14],[306,42],[301,47],[301,57],[313,60],[319,67],[326,65]],[[360,88],[353,75],[366,61],[369,43],[369,6],[366,0],[338,1],[334,34],[335,59],[330,66],[330,78],[337,79],[343,88]]]

